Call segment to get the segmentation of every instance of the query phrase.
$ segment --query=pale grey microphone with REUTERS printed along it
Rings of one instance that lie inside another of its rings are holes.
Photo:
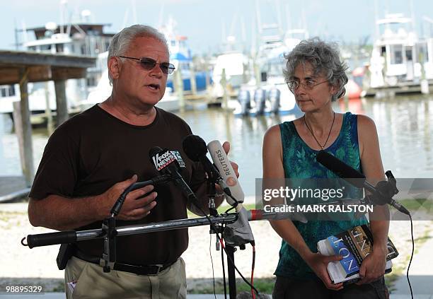
[[[238,182],[238,178],[236,177],[233,167],[231,167],[229,158],[227,158],[226,152],[224,151],[224,148],[222,148],[221,143],[217,140],[211,141],[207,144],[207,149],[209,150],[212,161],[214,161],[215,166],[219,170],[219,174],[224,183],[229,186],[231,196],[236,199],[239,204],[242,204],[243,199],[245,199],[245,194],[243,194],[241,184]],[[233,199],[226,197],[226,200],[231,206],[236,205]]]

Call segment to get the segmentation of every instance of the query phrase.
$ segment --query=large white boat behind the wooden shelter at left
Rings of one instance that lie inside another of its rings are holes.
[[[57,25],[48,22],[45,26],[23,29],[23,48],[30,52],[48,52],[52,54],[71,54],[75,56],[98,57],[110,45],[114,34],[105,33],[107,23],[89,22],[90,11],[82,11],[81,19]],[[34,40],[27,40],[28,35]],[[103,73],[100,61],[88,68],[86,78],[66,81],[66,95],[69,110],[76,110],[78,103],[87,95]],[[47,106],[56,110],[54,82],[28,83],[29,108],[32,114],[44,114]],[[13,102],[20,100],[18,84],[0,86],[0,113],[12,115]]]

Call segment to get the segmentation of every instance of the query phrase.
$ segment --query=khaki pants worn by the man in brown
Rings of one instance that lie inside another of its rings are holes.
[[[71,257],[64,271],[67,299],[144,298],[185,299],[185,262],[177,262],[156,276],[112,270],[104,273],[96,264]]]

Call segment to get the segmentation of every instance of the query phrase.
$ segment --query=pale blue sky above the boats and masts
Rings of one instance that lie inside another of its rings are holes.
[[[178,34],[187,36],[192,54],[209,54],[218,52],[228,35],[252,47],[258,34],[256,11],[262,24],[281,20],[283,29],[306,27],[310,37],[337,42],[368,39],[371,43],[375,7],[379,18],[386,12],[410,16],[411,2],[418,33],[423,24],[428,33],[433,25],[422,17],[433,19],[433,1],[429,0],[0,0],[0,49],[15,49],[14,28],[61,23],[61,3],[70,16],[91,11],[93,22],[111,24],[105,28],[108,33],[136,22],[157,26],[171,16]]]

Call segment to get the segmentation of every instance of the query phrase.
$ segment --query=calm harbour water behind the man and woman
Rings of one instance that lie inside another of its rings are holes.
[[[396,177],[433,177],[433,95],[341,100],[334,103],[334,108],[374,119],[385,170],[392,170]],[[295,118],[294,115],[238,118],[204,106],[178,115],[190,124],[194,134],[207,143],[214,139],[231,143],[229,157],[239,165],[239,180],[247,195],[254,195],[255,178],[262,177],[262,138],[265,131],[273,124]],[[0,150],[0,175],[21,175],[18,141],[10,132],[10,124],[3,127],[3,135],[0,132],[0,147],[3,146]],[[34,130],[35,169],[47,138],[45,130]]]

